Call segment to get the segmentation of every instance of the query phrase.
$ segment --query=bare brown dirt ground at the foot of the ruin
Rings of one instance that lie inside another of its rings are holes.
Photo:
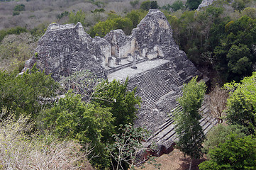
[[[189,157],[184,157],[184,154],[179,149],[174,149],[169,154],[163,154],[161,157],[155,157],[156,164],[162,164],[160,169],[162,170],[187,170],[189,169]],[[201,159],[194,159],[192,162],[192,170],[197,170],[198,165],[204,162],[206,157]],[[152,164],[144,164],[146,170],[155,170],[156,168]],[[138,167],[136,170],[141,169]]]

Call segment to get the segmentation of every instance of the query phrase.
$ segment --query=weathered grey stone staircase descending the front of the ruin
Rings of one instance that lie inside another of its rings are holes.
[[[142,114],[140,116],[140,122],[143,122],[140,125],[148,125],[148,128],[150,128],[150,123],[157,125],[150,129],[153,131],[152,135],[143,144],[145,147],[150,147],[152,144],[156,145],[156,149],[151,154],[157,157],[162,154],[169,154],[177,140],[174,129],[174,112],[182,111],[182,107],[178,104],[175,106],[175,104],[170,103],[173,101],[168,100],[179,97],[182,85],[185,81],[191,79],[191,77],[182,79],[180,74],[182,72],[177,72],[172,67],[172,63],[167,62],[154,69],[129,77],[128,89],[132,90],[137,87],[136,95],[142,98],[142,106],[147,106],[145,109],[148,109],[145,110],[146,115]],[[208,130],[216,125],[217,121],[209,116],[209,107],[206,103],[199,111],[202,115],[200,125],[206,134]],[[166,113],[168,114],[166,115]]]

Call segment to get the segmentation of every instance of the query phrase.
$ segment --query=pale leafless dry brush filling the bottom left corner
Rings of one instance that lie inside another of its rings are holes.
[[[2,109],[2,115],[6,109]],[[0,123],[0,169],[81,169],[90,168],[89,151],[72,140],[52,135],[26,135],[33,123],[23,115],[9,115]]]

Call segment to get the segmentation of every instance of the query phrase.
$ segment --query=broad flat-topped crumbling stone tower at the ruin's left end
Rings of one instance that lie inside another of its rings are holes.
[[[23,71],[33,67],[35,62],[39,69],[45,69],[45,73],[52,74],[56,80],[79,70],[104,71],[101,48],[84,32],[81,23],[51,24],[38,41],[35,52],[36,57],[26,62]]]

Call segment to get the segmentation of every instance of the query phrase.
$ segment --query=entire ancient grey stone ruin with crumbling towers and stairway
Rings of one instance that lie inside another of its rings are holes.
[[[53,23],[35,52],[23,70],[37,62],[37,67],[55,80],[86,69],[109,81],[123,81],[129,76],[129,89],[137,86],[137,95],[143,101],[135,125],[153,134],[145,145],[154,141],[157,156],[172,150],[176,139],[172,111],[180,109],[176,98],[181,95],[182,84],[201,74],[175,44],[171,26],[161,11],[151,9],[131,35],[111,30],[104,38],[91,38],[81,23]],[[207,110],[202,108],[203,113]],[[207,132],[213,123],[204,116],[201,125]]]

